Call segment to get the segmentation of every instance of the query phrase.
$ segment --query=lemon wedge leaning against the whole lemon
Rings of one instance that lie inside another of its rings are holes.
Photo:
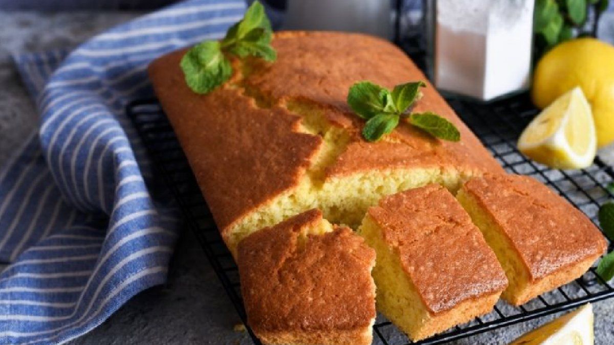
[[[591,106],[575,87],[543,109],[524,129],[518,149],[556,169],[586,168],[597,153]]]

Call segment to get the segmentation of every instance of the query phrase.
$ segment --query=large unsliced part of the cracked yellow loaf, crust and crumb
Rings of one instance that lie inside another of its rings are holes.
[[[392,88],[426,77],[393,44],[363,34],[281,32],[274,63],[233,60],[234,75],[198,95],[179,61],[149,66],[155,92],[181,142],[222,237],[236,254],[247,235],[314,207],[331,222],[360,224],[384,195],[435,182],[456,190],[502,172],[432,85],[415,112],[453,122],[460,142],[435,139],[407,123],[366,142],[364,121],[346,98],[360,80]]]

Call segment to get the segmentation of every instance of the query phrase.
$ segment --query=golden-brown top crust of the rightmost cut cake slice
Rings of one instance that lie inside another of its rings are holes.
[[[587,258],[594,261],[607,249],[585,214],[532,177],[484,176],[469,180],[463,190],[502,229],[532,282]]]

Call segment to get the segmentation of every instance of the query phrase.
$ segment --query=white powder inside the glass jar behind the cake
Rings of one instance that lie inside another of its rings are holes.
[[[534,0],[437,0],[435,85],[487,101],[529,87]]]

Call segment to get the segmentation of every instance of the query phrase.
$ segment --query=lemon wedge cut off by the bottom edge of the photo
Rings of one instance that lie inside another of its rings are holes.
[[[590,303],[516,339],[510,345],[593,345],[593,306]]]

